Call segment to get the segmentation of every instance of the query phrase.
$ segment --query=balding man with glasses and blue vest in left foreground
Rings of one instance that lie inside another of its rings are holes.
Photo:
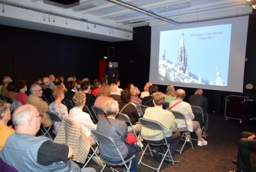
[[[12,114],[16,133],[6,141],[0,158],[18,171],[88,171],[80,169],[75,162],[68,160],[73,148],[67,144],[57,144],[50,138],[35,137],[40,129],[42,114],[33,105],[23,105]]]

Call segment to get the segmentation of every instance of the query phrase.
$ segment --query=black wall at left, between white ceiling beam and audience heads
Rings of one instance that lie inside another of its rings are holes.
[[[98,78],[107,42],[0,25],[0,76],[33,82],[38,76]]]

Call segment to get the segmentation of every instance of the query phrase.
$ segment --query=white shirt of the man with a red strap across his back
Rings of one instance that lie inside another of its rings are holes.
[[[172,100],[170,102],[170,106],[174,105],[175,103],[179,102],[180,100]],[[189,131],[193,131],[193,122],[192,120],[194,120],[194,114],[192,112],[192,108],[190,106],[189,103],[186,102],[181,102],[178,105],[174,106],[171,110],[174,111],[179,111],[181,114],[183,114],[185,116],[187,125],[188,125],[188,130]],[[183,120],[176,120],[177,124],[178,124],[178,128],[182,128],[182,127],[186,127],[185,122]]]

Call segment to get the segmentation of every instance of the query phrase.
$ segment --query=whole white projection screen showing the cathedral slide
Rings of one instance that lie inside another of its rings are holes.
[[[149,81],[243,92],[248,17],[152,27]]]

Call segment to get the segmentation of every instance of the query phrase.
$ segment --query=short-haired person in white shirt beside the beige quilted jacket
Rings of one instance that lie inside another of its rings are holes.
[[[85,94],[77,92],[75,96],[73,96],[73,102],[75,103],[75,107],[69,111],[69,118],[76,120],[82,125],[84,133],[89,138],[91,145],[94,145],[95,140],[91,135],[91,130],[95,130],[97,125],[93,124],[89,114],[82,111],[86,102]]]

